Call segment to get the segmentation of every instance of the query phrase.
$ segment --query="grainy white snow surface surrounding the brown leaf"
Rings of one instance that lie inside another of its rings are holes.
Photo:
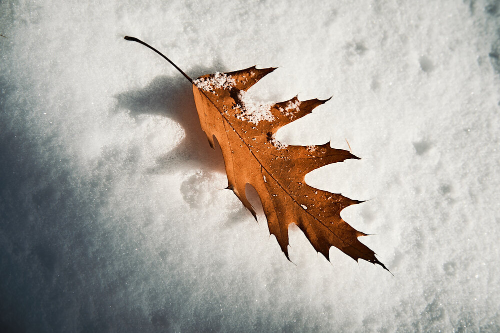
[[[500,320],[500,4],[1,1],[0,328],[461,331]],[[280,66],[257,100],[333,98],[278,133],[394,276],[226,186],[188,75]]]

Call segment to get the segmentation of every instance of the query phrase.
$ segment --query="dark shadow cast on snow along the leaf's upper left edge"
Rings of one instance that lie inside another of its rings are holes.
[[[199,68],[195,72],[210,73],[212,69]],[[220,147],[210,148],[199,125],[190,83],[181,75],[154,77],[142,88],[114,95],[116,111],[129,111],[130,117],[141,114],[160,115],[178,123],[184,138],[171,151],[156,159],[148,173],[169,173],[180,168],[224,172]]]

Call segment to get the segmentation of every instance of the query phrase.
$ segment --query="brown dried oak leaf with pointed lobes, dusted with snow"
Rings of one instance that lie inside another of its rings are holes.
[[[125,37],[152,48],[132,38]],[[173,65],[192,83],[200,125],[210,146],[214,147],[214,138],[220,145],[227,189],[234,192],[256,219],[245,195],[245,185],[255,188],[269,233],[276,237],[288,260],[288,226],[294,223],[327,260],[329,249],[334,246],[356,261],[363,259],[387,269],[375,253],[357,239],[366,234],[340,217],[342,209],[360,201],[310,187],[304,181],[305,175],[314,169],[358,157],[349,151],[331,148],[329,142],[305,147],[285,145],[274,138],[280,127],[311,113],[328,99],[300,101],[293,97],[273,105],[261,105],[247,98],[246,91],[275,68],[253,66],[192,80]]]

